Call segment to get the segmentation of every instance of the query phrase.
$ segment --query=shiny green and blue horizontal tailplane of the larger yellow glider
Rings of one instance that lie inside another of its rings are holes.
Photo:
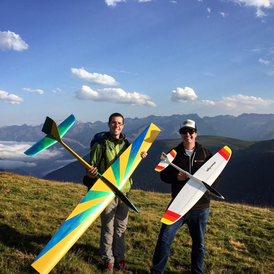
[[[60,125],[58,125],[58,130],[60,133],[60,136],[63,137],[64,134],[68,131],[68,129],[74,124],[75,117],[74,115],[68,116],[67,119],[65,119]],[[35,156],[36,154],[40,153],[44,149],[47,149],[51,145],[58,142],[52,135],[47,135],[44,138],[42,138],[40,141],[38,141],[36,144],[34,144],[32,147],[30,147],[28,150],[26,150],[24,153],[28,156]]]

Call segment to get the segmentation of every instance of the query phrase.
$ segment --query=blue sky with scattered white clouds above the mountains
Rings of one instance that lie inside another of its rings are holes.
[[[0,14],[0,127],[274,112],[274,0],[4,0]]]

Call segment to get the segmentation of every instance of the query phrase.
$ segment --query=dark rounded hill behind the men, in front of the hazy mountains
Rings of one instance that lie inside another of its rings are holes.
[[[218,186],[225,201],[274,206],[274,140],[242,141],[219,136],[198,136],[196,140],[212,154],[224,145],[232,150]],[[181,139],[156,140],[149,149],[148,156],[132,175],[133,189],[169,193],[170,184],[162,182],[154,168],[159,163],[161,153],[168,152],[180,142]],[[84,159],[88,161],[89,155]],[[84,174],[81,164],[73,162],[43,178],[82,183]]]

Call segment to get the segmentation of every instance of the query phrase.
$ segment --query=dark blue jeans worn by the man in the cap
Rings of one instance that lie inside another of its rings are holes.
[[[162,224],[152,259],[153,267],[150,270],[151,274],[162,274],[164,272],[175,234],[184,223],[187,224],[192,239],[191,274],[202,273],[206,253],[204,234],[208,216],[209,208],[192,210],[187,212],[174,224]]]

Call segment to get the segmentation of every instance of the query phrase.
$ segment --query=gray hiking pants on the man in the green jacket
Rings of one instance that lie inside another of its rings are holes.
[[[125,193],[127,198],[129,193]],[[129,207],[114,198],[101,213],[101,236],[99,253],[104,263],[121,261],[125,258],[125,230]]]

